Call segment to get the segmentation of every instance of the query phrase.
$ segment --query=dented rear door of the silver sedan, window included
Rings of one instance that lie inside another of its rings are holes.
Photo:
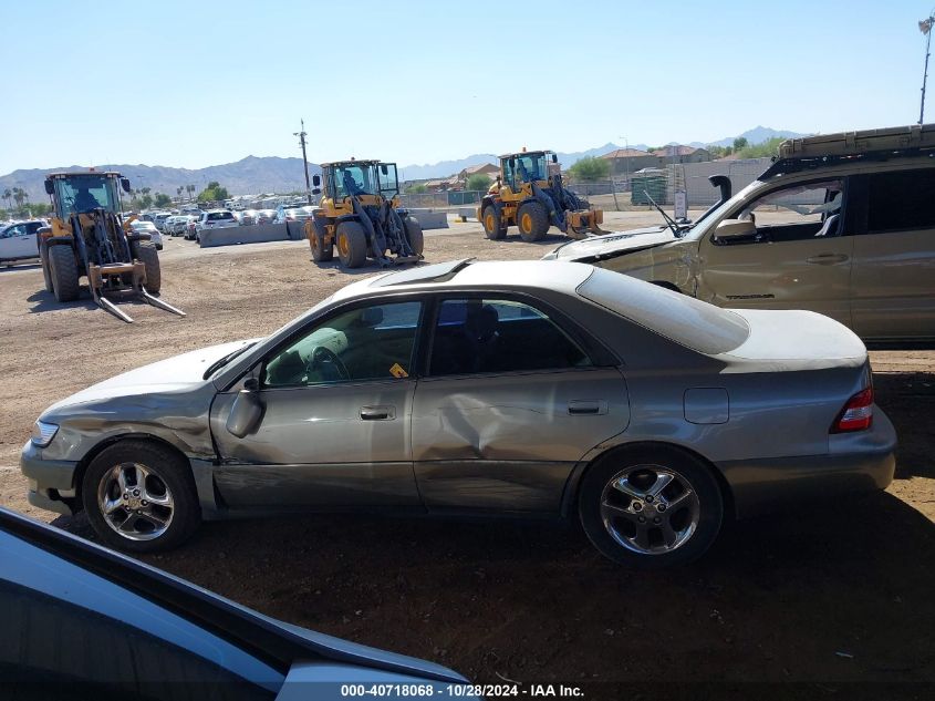
[[[526,298],[439,301],[413,404],[430,511],[557,513],[574,465],[626,427],[623,377],[595,367],[575,331]]]

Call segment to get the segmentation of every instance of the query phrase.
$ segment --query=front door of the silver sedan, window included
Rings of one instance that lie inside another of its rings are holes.
[[[259,372],[259,424],[227,430],[242,383],[218,394],[215,483],[231,507],[418,506],[409,378],[422,303],[357,307],[314,322]]]

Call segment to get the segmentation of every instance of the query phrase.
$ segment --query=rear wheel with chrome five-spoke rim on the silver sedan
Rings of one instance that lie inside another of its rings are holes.
[[[724,499],[704,462],[676,447],[609,453],[585,473],[579,514],[591,543],[633,569],[690,563],[720,530]]]

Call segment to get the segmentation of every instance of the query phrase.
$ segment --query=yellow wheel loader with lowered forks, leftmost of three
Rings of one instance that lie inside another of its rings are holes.
[[[162,287],[159,257],[149,235],[134,233],[133,217],[124,218],[121,187],[129,192],[129,181],[120,173],[93,168],[45,178],[53,208],[51,226],[39,230],[45,290],[60,302],[73,301],[86,276],[94,302],[123,321],[133,319],[107,297],[135,297],[184,317],[153,297]]]

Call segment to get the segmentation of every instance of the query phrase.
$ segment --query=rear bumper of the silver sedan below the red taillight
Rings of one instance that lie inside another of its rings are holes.
[[[827,455],[718,463],[738,518],[798,501],[885,489],[896,468],[896,431],[879,406],[869,431],[832,434]]]

